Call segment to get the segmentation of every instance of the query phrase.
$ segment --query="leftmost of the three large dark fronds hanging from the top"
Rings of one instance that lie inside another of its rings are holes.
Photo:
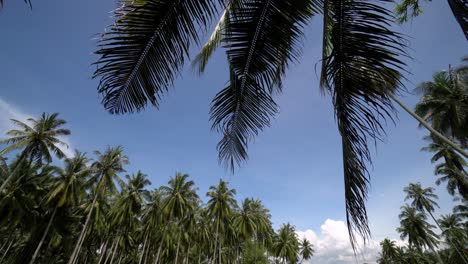
[[[98,91],[111,113],[139,111],[159,98],[180,72],[198,26],[206,26],[214,0],[122,1],[116,22],[104,33],[96,54]]]

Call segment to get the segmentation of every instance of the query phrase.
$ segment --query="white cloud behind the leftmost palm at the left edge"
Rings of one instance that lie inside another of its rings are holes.
[[[26,122],[28,118],[35,117],[29,113],[26,113],[21,108],[3,100],[0,97],[0,138],[5,137],[5,133],[15,126],[10,119],[17,119],[19,121]],[[60,138],[60,140],[68,145],[66,147],[60,147],[60,149],[67,155],[67,157],[73,157],[73,147],[68,138]]]

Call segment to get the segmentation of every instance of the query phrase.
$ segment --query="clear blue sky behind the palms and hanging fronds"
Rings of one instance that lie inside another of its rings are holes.
[[[22,1],[5,2],[0,11],[2,134],[9,128],[5,120],[13,114],[60,112],[72,130],[73,148],[92,152],[122,145],[131,161],[128,172],[142,170],[154,186],[180,171],[190,174],[204,195],[209,185],[223,178],[237,189],[239,199],[264,201],[276,227],[291,222],[319,239],[327,235],[327,219],[345,220],[340,139],[330,97],[321,95],[315,70],[321,54],[320,18],[307,28],[302,61],[290,68],[284,93],[277,97],[279,115],[251,144],[248,163],[231,175],[218,165],[219,134],[210,130],[208,120],[210,101],[228,77],[222,50],[204,76],[186,67],[159,111],[148,108],[112,116],[100,105],[90,65],[97,59],[92,54],[97,34],[112,22],[114,1],[33,1],[32,10]],[[468,55],[446,2],[433,1],[424,10],[421,17],[399,27],[410,36],[410,90]],[[417,101],[410,94],[402,99],[410,106]],[[426,132],[413,119],[399,111],[397,125],[390,124],[387,132],[386,142],[375,151],[368,202],[376,241],[398,238],[395,227],[403,186],[416,181],[434,185],[436,179],[430,154],[420,152]],[[449,212],[451,198],[442,187],[438,194],[440,212]]]

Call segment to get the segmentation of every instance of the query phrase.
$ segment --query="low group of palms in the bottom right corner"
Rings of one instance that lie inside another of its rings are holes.
[[[465,264],[468,263],[468,200],[453,208],[453,213],[436,219],[433,212],[438,207],[433,188],[423,188],[411,183],[404,189],[410,204],[401,207],[400,227],[397,231],[407,246],[384,239],[379,264]],[[430,217],[436,226],[428,222]]]

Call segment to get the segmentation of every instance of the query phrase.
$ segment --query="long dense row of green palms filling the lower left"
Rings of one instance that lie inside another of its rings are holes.
[[[238,204],[225,181],[206,203],[187,174],[148,190],[140,171],[121,178],[122,147],[65,157],[60,137],[70,131],[57,114],[13,122],[0,142],[0,263],[297,263],[313,255],[292,225],[275,232],[262,202]]]

